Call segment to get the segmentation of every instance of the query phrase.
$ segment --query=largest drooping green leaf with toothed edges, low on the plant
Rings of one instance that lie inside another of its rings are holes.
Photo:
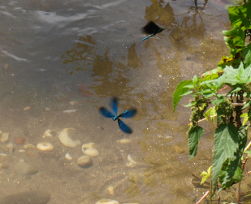
[[[235,159],[235,153],[239,147],[238,131],[232,124],[222,124],[214,136],[214,155],[213,155],[213,184],[217,183],[223,164]]]

